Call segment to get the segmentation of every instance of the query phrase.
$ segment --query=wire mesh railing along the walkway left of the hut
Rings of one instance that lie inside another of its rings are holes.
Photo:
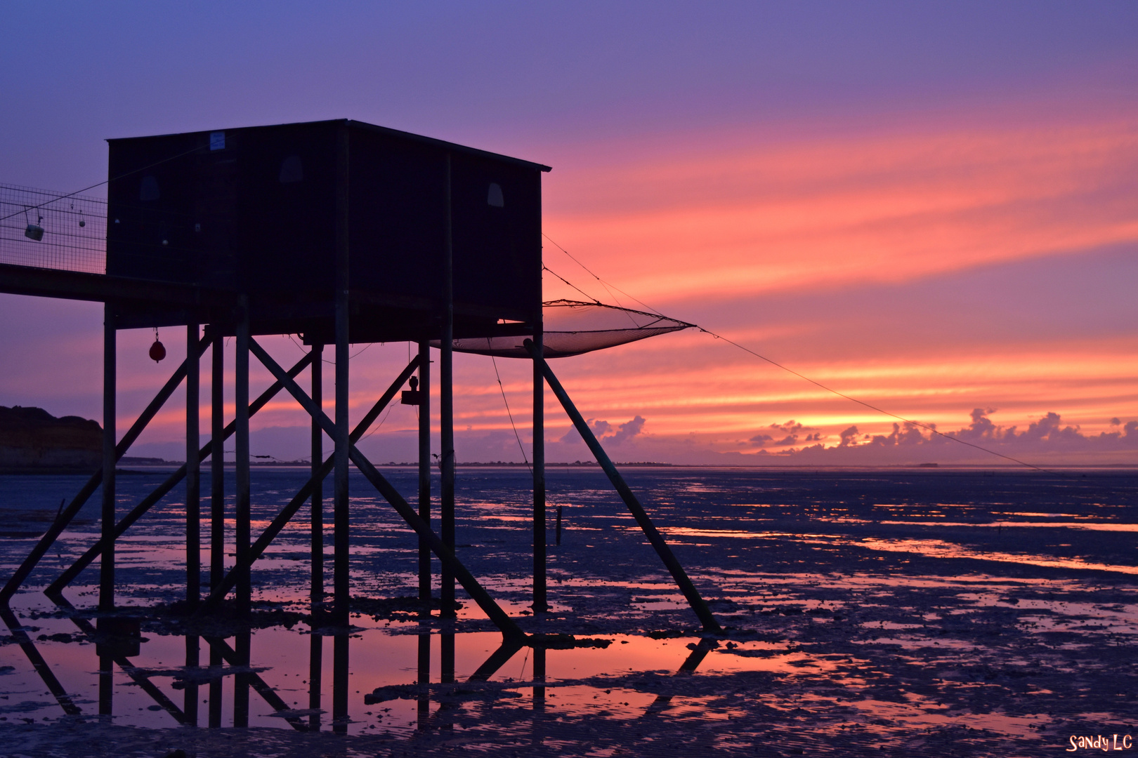
[[[0,264],[107,270],[107,201],[0,184]]]

